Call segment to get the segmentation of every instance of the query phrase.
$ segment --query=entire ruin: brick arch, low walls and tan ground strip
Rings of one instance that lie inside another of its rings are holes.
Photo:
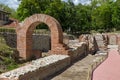
[[[51,31],[51,50],[48,53],[52,55],[44,58],[39,58],[41,51],[32,49],[33,31],[41,23],[47,24]],[[45,14],[35,14],[26,18],[18,25],[16,33],[19,56],[24,60],[33,56],[39,59],[2,73],[0,80],[91,80],[93,70],[108,57],[111,45],[115,45],[115,48],[119,48],[120,45],[120,35],[110,33],[82,34],[79,39],[66,40],[65,45],[60,23]],[[77,62],[74,63],[75,61]],[[63,73],[53,77],[66,68]]]

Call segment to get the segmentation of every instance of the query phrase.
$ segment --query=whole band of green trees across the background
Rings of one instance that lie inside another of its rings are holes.
[[[89,33],[120,30],[120,1],[91,0],[89,5],[74,5],[72,0],[21,0],[17,16],[22,21],[36,13],[55,17],[65,32]],[[40,26],[43,27],[44,26]],[[40,28],[39,27],[39,28]]]

